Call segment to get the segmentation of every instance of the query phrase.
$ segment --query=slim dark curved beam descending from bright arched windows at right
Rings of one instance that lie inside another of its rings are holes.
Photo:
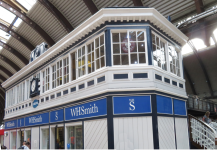
[[[202,59],[200,58],[200,55],[198,54],[197,49],[195,48],[194,44],[193,44],[191,41],[188,41],[188,45],[192,48],[192,50],[193,50],[193,52],[194,52],[194,55],[196,56],[197,60],[199,61],[199,64],[200,64],[200,66],[201,66],[201,68],[202,68],[202,71],[203,71],[203,74],[205,75],[206,82],[207,82],[207,84],[208,84],[211,97],[213,97],[213,96],[214,96],[214,93],[213,93],[213,89],[212,89],[212,85],[211,85],[209,76],[208,76],[208,74],[207,74],[206,67],[204,66],[204,64],[203,64],[203,62],[202,62]]]

